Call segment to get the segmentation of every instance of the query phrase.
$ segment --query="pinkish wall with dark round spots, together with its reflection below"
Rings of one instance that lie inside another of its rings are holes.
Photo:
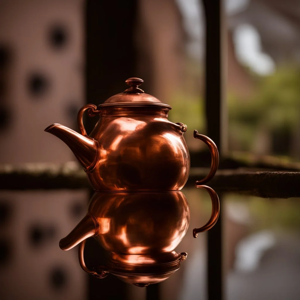
[[[85,103],[83,43],[83,1],[1,1],[0,164],[73,160],[44,128],[75,128]],[[86,202],[84,190],[0,192],[1,299],[85,299],[76,250],[64,253],[58,241]]]

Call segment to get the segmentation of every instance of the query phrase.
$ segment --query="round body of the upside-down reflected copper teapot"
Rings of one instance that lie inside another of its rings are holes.
[[[88,214],[99,224],[95,238],[107,251],[119,254],[169,253],[190,222],[190,208],[182,192],[96,192]]]

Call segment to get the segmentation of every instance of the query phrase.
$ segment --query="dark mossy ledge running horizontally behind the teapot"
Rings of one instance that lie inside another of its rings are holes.
[[[186,187],[194,186],[209,169],[191,168]],[[300,172],[249,169],[218,170],[207,183],[217,192],[233,192],[263,198],[300,197]],[[23,164],[0,166],[1,190],[42,190],[89,188],[82,167],[65,164]]]

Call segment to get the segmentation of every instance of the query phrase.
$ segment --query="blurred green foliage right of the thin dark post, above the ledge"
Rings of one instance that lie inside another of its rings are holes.
[[[300,120],[300,69],[279,67],[272,75],[253,78],[256,91],[248,99],[228,94],[229,134],[240,149],[251,151],[259,130],[292,132]]]

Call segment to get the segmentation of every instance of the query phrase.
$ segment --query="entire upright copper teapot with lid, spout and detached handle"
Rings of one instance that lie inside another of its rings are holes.
[[[107,99],[98,110],[93,104],[82,107],[78,113],[81,134],[60,124],[45,129],[70,147],[97,191],[175,191],[187,181],[190,157],[183,137],[186,125],[170,122],[171,107],[140,92],[139,80],[128,79],[130,93]],[[89,136],[82,122],[85,111],[100,117]],[[203,140],[212,154],[211,171],[200,184],[216,172],[218,155],[208,137],[194,136]]]

